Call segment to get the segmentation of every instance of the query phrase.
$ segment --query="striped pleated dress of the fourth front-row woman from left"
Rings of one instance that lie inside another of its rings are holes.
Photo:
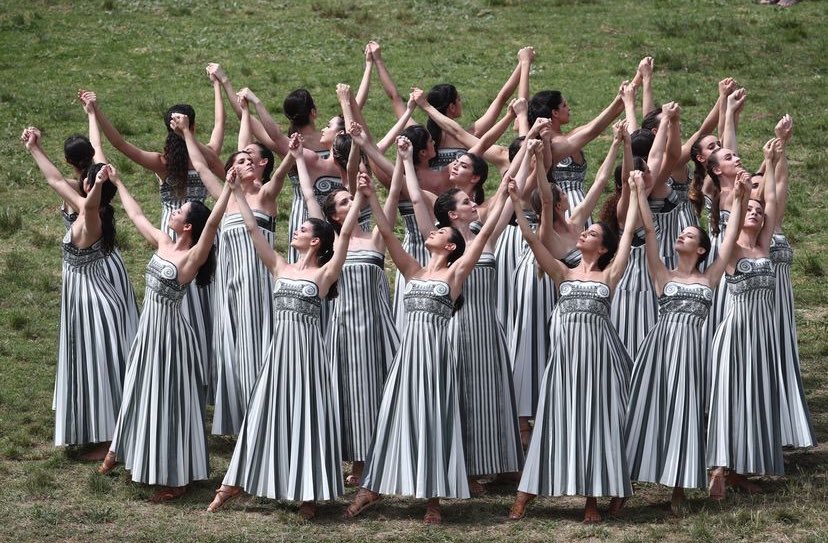
[[[630,496],[624,438],[632,362],[609,322],[610,290],[565,281],[518,490]]]

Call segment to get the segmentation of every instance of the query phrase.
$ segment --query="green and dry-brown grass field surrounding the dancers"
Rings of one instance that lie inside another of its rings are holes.
[[[116,126],[139,146],[161,150],[162,115],[193,104],[203,138],[212,126],[212,90],[204,73],[220,62],[280,115],[282,98],[304,86],[320,119],[333,115],[338,82],[354,87],[362,47],[383,46],[400,90],[452,82],[470,122],[514,68],[517,50],[537,51],[532,92],[561,89],[572,126],[588,121],[631,77],[638,60],[656,62],[657,103],[678,101],[686,135],[733,76],[749,92],[739,127],[748,167],[784,113],[794,117],[789,146],[791,198],[785,231],[796,250],[794,283],[805,388],[820,441],[828,439],[828,100],[825,3],[762,7],[750,0],[678,2],[336,0],[297,2],[3,0],[0,9],[0,540],[104,541],[828,541],[828,447],[786,454],[785,478],[762,482],[758,496],[730,493],[720,504],[690,493],[682,516],[669,513],[669,490],[641,486],[622,519],[579,522],[582,500],[538,500],[527,518],[507,523],[513,488],[449,502],[444,525],[424,529],[424,505],[387,499],[354,523],[344,500],[298,520],[295,506],[245,498],[220,514],[204,512],[226,469],[232,443],[212,438],[212,479],[183,499],[152,506],[151,490],[122,469],[97,475],[74,452],[52,447],[60,304],[62,224],[59,200],[18,141],[30,124],[47,153],[62,161],[63,139],[86,131],[79,87],[98,92]],[[374,133],[392,114],[374,79],[366,107]],[[420,115],[421,120],[424,117]],[[228,116],[223,156],[238,123]],[[591,175],[609,135],[587,147]],[[158,216],[154,176],[107,147],[144,205]],[[68,168],[64,168],[68,173]],[[288,209],[287,195],[280,200]],[[286,235],[280,215],[280,240]],[[150,249],[121,215],[121,251],[139,296]],[[281,243],[283,245],[283,243]],[[350,499],[350,495],[347,496]]]

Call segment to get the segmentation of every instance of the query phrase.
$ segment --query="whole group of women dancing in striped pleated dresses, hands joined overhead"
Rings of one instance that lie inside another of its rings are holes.
[[[193,108],[178,104],[163,152],[140,149],[86,90],[89,137],[65,143],[72,176],[37,128],[24,130],[66,224],[55,444],[96,444],[86,457],[101,473],[122,463],[163,502],[209,477],[213,405],[212,433],[237,437],[208,510],[246,492],[300,502],[307,519],[345,485],[359,486],[346,518],[401,495],[426,499],[425,522],[439,523],[440,498],[497,480],[518,483],[513,520],[537,495],[578,495],[595,522],[597,498],[618,514],[634,481],[672,488],[677,510],[686,489],[709,486],[720,500],[728,485],[760,491],[748,475],[782,475],[783,447],[816,443],[781,230],[792,120],[750,173],[736,144],[745,90],[722,80],[682,141],[681,108],[655,106],[647,57],[603,111],[565,132],[566,98],[529,93],[534,55],[518,52],[467,128],[453,85],[404,101],[371,42],[358,91],[337,85],[341,112],[322,130],[308,91],[284,100],[283,131],[217,64],[206,144]],[[362,115],[374,72],[396,116],[380,139]],[[224,163],[223,95],[240,119]],[[417,108],[427,126],[412,120]],[[583,149],[611,125],[585,192]],[[510,127],[514,142],[497,145]],[[158,228],[106,163],[101,132],[156,174]],[[492,166],[500,181],[487,198]],[[116,192],[156,250],[140,319],[115,241]]]

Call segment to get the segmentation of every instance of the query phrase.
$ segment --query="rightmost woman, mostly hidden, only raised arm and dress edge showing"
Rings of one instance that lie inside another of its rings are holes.
[[[782,409],[782,445],[786,447],[814,447],[811,413],[805,399],[802,375],[799,368],[796,319],[793,307],[791,263],[793,249],[782,233],[782,220],[788,203],[788,159],[785,156],[791,139],[793,120],[785,115],[776,125],[776,137],[782,142],[782,152],[776,167],[777,209],[779,218],[771,239],[770,257],[776,272],[776,318],[779,333],[779,354],[782,357],[782,385],[780,407]]]

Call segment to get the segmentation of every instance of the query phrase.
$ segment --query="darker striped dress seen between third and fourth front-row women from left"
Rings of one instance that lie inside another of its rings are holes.
[[[463,284],[463,307],[449,323],[457,349],[466,471],[491,475],[523,467],[512,364],[495,313],[495,257],[484,253]]]

